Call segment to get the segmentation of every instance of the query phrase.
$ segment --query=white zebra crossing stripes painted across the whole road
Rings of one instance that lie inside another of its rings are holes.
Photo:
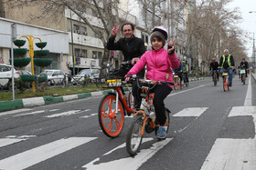
[[[187,107],[175,115],[175,117],[194,117],[191,121],[196,121],[197,117],[203,115],[208,111],[208,107]],[[256,107],[255,106],[240,106],[233,107],[228,115],[229,117],[236,116],[251,116],[254,123],[255,134],[256,134]],[[44,114],[43,114],[44,113]],[[80,115],[81,113],[86,115]],[[47,114],[47,115],[46,115]],[[10,115],[12,117],[23,117],[26,115],[39,115],[44,118],[56,118],[63,116],[73,116],[78,115],[80,120],[87,120],[93,116],[96,116],[96,113],[93,113],[91,109],[85,110],[69,110],[61,112],[59,109],[51,109],[47,112],[45,110],[34,111],[33,109],[20,110],[20,112],[9,112],[3,115]],[[1,115],[0,115],[1,117]],[[189,119],[190,120],[190,119]],[[89,120],[91,121],[91,119]],[[189,126],[186,125],[183,129],[178,131],[182,133],[184,129],[187,129]],[[1,135],[1,132],[0,132]],[[103,135],[103,134],[101,134]],[[2,135],[3,136],[3,135]],[[36,140],[37,135],[6,135],[5,137],[0,138],[0,153],[1,149],[4,150],[5,147],[16,147],[17,144],[26,143],[29,140]],[[42,136],[40,136],[42,137]],[[116,143],[114,147],[110,147],[109,150],[103,149],[98,154],[90,155],[87,153],[89,158],[87,161],[81,162],[79,166],[73,168],[85,168],[87,170],[98,170],[98,169],[123,169],[123,170],[135,170],[140,168],[145,162],[149,161],[156,153],[169,145],[174,141],[175,137],[168,137],[163,141],[156,141],[155,138],[145,136],[143,139],[144,147],[141,148],[141,151],[138,155],[131,157],[125,151],[125,142]],[[27,148],[21,152],[17,152],[14,155],[1,155],[0,154],[0,169],[12,170],[12,169],[26,169],[28,167],[37,167],[38,164],[48,161],[55,157],[58,160],[61,159],[62,154],[69,153],[72,150],[79,148],[81,146],[91,147],[95,145],[95,149],[101,150],[100,145],[102,138],[99,136],[81,136],[81,135],[72,135],[69,137],[61,137],[50,142],[42,142],[42,144],[37,145],[32,148]],[[215,144],[212,146],[205,160],[203,160],[203,165],[201,165],[201,170],[209,169],[256,169],[256,137],[249,139],[232,139],[232,138],[217,138]],[[146,145],[146,146],[145,146]],[[122,156],[116,155],[117,151],[122,151]],[[6,151],[5,151],[6,152]],[[84,151],[87,152],[87,151]],[[112,157],[112,155],[118,156],[112,160],[107,159],[106,157]],[[67,160],[60,160],[60,162]],[[71,160],[70,160],[71,161]],[[55,164],[59,164],[56,162]],[[54,167],[58,167],[55,165]]]

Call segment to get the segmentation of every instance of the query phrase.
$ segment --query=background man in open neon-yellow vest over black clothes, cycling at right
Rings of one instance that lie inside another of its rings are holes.
[[[234,57],[229,55],[229,50],[224,50],[224,55],[219,59],[219,66],[221,67],[221,73],[228,72],[229,74],[229,86],[232,86],[233,80],[233,68],[235,66]]]

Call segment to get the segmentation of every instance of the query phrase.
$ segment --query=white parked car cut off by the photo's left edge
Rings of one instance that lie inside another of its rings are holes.
[[[14,77],[18,78],[18,72],[14,68]],[[0,86],[5,86],[12,78],[12,65],[0,64]]]

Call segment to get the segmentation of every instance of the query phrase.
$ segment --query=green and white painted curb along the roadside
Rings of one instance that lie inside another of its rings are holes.
[[[208,77],[205,77],[208,79]],[[197,80],[204,80],[205,78],[193,78],[189,77],[189,81],[197,81]],[[128,91],[128,88],[123,88],[124,91]],[[91,92],[91,93],[85,93],[85,94],[78,94],[78,95],[65,95],[65,96],[42,96],[42,97],[33,97],[33,98],[24,98],[24,99],[18,99],[18,100],[10,100],[10,101],[2,101],[0,102],[0,112],[7,111],[7,110],[13,110],[13,109],[19,109],[24,107],[30,107],[30,106],[37,106],[37,105],[48,105],[48,104],[54,104],[58,102],[64,102],[69,101],[73,99],[80,99],[80,98],[87,98],[91,96],[97,96],[97,95],[106,95],[109,92],[113,92],[113,90],[104,90],[104,91],[98,91],[98,92]]]

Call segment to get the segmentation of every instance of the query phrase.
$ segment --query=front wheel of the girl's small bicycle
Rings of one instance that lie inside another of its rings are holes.
[[[142,144],[143,135],[141,135],[144,124],[144,118],[142,115],[135,116],[133,122],[129,127],[126,136],[126,151],[130,155],[136,155],[140,150]]]

